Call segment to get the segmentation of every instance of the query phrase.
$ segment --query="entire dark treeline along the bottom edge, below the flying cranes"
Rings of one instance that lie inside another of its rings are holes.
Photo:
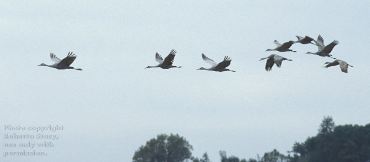
[[[211,162],[207,153],[191,156],[192,146],[179,135],[160,134],[135,151],[132,162]],[[227,157],[219,151],[220,162],[370,162],[370,123],[365,126],[335,126],[331,117],[322,119],[318,133],[303,143],[295,142],[287,155],[276,149],[256,159]]]

